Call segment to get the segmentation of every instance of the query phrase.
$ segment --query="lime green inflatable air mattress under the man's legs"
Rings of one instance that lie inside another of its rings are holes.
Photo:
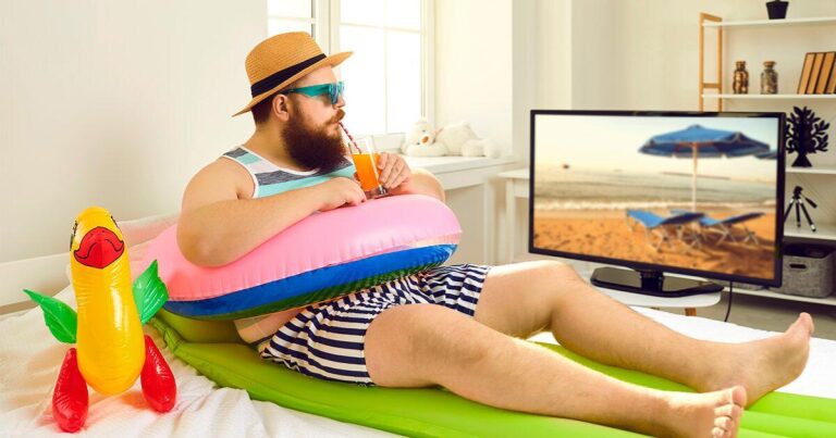
[[[256,400],[418,437],[636,436],[591,423],[505,411],[443,389],[391,389],[319,380],[261,360],[231,322],[188,320],[161,311],[151,324],[165,343],[218,385],[245,389]],[[543,345],[592,370],[649,388],[690,391],[660,377],[602,365]],[[362,409],[357,409],[362,406]],[[740,437],[836,437],[836,400],[773,392],[749,408]]]

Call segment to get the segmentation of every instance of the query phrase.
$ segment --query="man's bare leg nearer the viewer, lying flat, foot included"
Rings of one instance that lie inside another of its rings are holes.
[[[694,395],[626,384],[433,304],[381,313],[365,351],[380,386],[442,385],[496,408],[654,436],[735,436],[746,403],[741,387]]]

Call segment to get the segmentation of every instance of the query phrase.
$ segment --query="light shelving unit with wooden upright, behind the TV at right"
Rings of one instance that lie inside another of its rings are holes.
[[[764,35],[762,32],[763,28],[769,29],[775,29],[775,32],[779,32],[779,29],[783,28],[798,28],[798,27],[808,27],[808,26],[834,26],[836,28],[836,16],[825,16],[825,17],[808,17],[808,18],[785,18],[785,20],[753,20],[753,21],[729,21],[725,22],[722,17],[716,15],[711,15],[706,13],[700,14],[700,42],[699,42],[699,109],[700,111],[705,110],[705,103],[716,103],[717,111],[724,111],[724,107],[730,105],[735,103],[735,110],[737,110],[737,107],[740,105],[741,110],[738,111],[757,111],[760,108],[763,108],[764,105],[767,105],[770,108],[769,111],[775,111],[776,103],[783,103],[786,102],[787,105],[801,105],[807,104],[809,107],[816,107],[814,110],[816,113],[819,113],[822,118],[825,120],[832,120],[833,115],[836,114],[836,95],[797,95],[797,93],[785,93],[785,95],[760,95],[760,93],[748,93],[748,95],[735,95],[730,93],[726,86],[724,86],[724,41],[728,40],[730,38],[730,35],[734,33],[734,29],[738,28],[761,28],[761,34]],[[716,82],[706,82],[705,80],[705,72],[704,67],[706,64],[706,47],[705,47],[705,30],[711,29],[717,32],[717,42],[716,42]],[[780,30],[784,32],[784,30]],[[750,34],[751,35],[751,34]],[[745,36],[743,36],[745,37]],[[836,48],[836,40],[834,41],[834,48]],[[804,50],[803,48],[798,49],[798,59],[800,60],[803,57],[803,53],[806,53],[809,50]],[[786,65],[786,64],[785,64]],[[795,73],[790,73],[795,74]],[[800,71],[799,71],[800,74]],[[752,76],[754,77],[754,76]],[[751,82],[750,82],[751,85]],[[713,90],[714,93],[706,92],[706,90]],[[751,88],[750,88],[751,90]],[[795,91],[795,88],[792,88],[792,91]],[[789,107],[791,109],[791,107]],[[825,111],[826,110],[826,111]],[[726,109],[726,111],[728,111]],[[826,112],[826,115],[823,115],[823,113]],[[832,128],[833,132],[834,128]],[[831,135],[832,141],[834,138],[836,138],[833,134]],[[833,145],[831,145],[831,149],[834,149]],[[834,151],[825,152],[828,154],[836,153]],[[828,160],[825,160],[828,161]],[[814,167],[791,167],[790,163],[792,162],[792,155],[787,157],[787,167],[786,167],[786,185],[787,187],[792,187],[792,185],[803,185],[806,188],[817,188],[819,190],[819,198],[814,198],[816,202],[820,203],[820,209],[822,204],[825,205],[825,208],[833,211],[834,205],[832,204],[834,202],[834,198],[831,196],[824,197],[822,195],[831,195],[833,192],[833,189],[829,187],[833,187],[836,189],[836,163],[826,163],[823,165],[816,165]],[[788,200],[787,200],[788,201]],[[786,205],[785,205],[786,209]],[[814,217],[816,221],[816,231],[813,233],[810,227],[807,224],[807,221],[802,217],[801,226],[796,227],[795,217],[790,217],[789,221],[787,221],[784,225],[784,236],[785,240],[789,241],[798,241],[801,239],[802,241],[811,241],[816,243],[824,243],[828,246],[836,246],[836,214],[833,214],[829,212],[825,215],[824,220],[821,217]],[[767,290],[748,290],[748,289],[735,289],[735,293],[741,293],[741,295],[750,295],[750,296],[758,296],[758,297],[766,297],[766,298],[773,298],[773,299],[780,299],[780,300],[789,300],[789,301],[801,301],[801,302],[810,302],[810,303],[816,303],[816,304],[824,304],[824,305],[834,305],[836,306],[836,296],[831,296],[829,298],[824,299],[816,299],[816,298],[807,298],[807,297],[797,297],[797,296],[789,296],[784,293],[776,293]]]

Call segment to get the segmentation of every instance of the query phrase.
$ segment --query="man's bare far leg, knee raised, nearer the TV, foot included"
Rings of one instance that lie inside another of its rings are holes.
[[[813,330],[804,313],[773,338],[746,343],[697,340],[600,293],[570,266],[557,262],[494,267],[476,320],[518,337],[549,329],[561,345],[581,355],[699,391],[742,385],[750,403],[798,377]]]

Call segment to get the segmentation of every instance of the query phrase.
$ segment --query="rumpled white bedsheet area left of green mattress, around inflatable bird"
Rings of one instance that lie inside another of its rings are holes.
[[[56,298],[75,308],[71,288]],[[157,330],[146,327],[177,380],[177,402],[165,414],[143,398],[139,379],[126,392],[103,397],[90,390],[87,437],[391,437],[377,429],[251,400],[239,389],[219,388],[165,348]],[[69,349],[47,329],[39,309],[0,320],[0,437],[52,436],[52,385]]]

